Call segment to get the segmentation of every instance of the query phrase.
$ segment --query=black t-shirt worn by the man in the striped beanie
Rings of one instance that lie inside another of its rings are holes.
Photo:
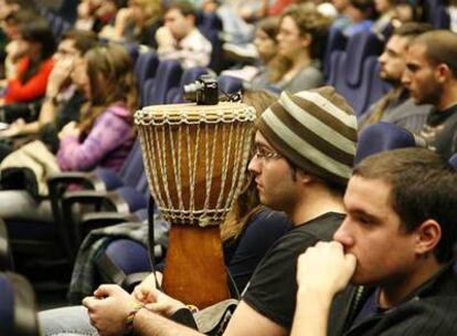
[[[290,329],[298,288],[297,258],[318,241],[331,241],[343,219],[342,213],[328,212],[285,233],[255,270],[243,301],[268,319]]]

